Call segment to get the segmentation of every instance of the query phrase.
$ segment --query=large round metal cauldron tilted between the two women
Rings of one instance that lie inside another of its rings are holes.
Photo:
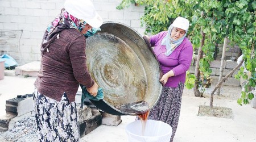
[[[159,99],[159,63],[142,36],[129,26],[105,22],[101,32],[86,40],[88,70],[102,87],[104,99],[94,105],[113,115],[136,115],[118,106],[145,101],[152,108]]]

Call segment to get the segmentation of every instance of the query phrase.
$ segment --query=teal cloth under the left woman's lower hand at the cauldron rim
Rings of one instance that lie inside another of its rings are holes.
[[[81,108],[84,106],[84,101],[86,98],[91,99],[93,101],[99,101],[100,99],[104,98],[104,94],[101,87],[98,88],[98,93],[96,97],[94,97],[93,95],[90,95],[90,93],[87,91],[84,85],[80,84],[80,86],[82,88]]]

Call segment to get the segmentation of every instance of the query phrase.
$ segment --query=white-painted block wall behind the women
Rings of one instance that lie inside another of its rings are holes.
[[[133,27],[143,35],[140,18],[144,6],[115,7],[121,0],[92,0],[96,11],[106,21]],[[0,0],[0,56],[7,53],[19,65],[40,60],[44,30],[64,6],[64,0]]]

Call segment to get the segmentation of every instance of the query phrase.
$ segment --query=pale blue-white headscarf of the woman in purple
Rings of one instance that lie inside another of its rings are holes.
[[[171,24],[170,27],[168,28],[168,34],[163,38],[161,42],[161,45],[166,46],[166,53],[164,53],[164,55],[166,56],[170,56],[174,49],[176,49],[182,43],[188,31],[186,30],[186,33],[180,39],[174,40],[171,37],[172,28],[173,26]]]

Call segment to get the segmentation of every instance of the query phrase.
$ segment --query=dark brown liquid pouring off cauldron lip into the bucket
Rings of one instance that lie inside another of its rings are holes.
[[[147,116],[150,112],[149,105],[145,101],[139,101],[135,103],[126,103],[121,106],[115,106],[118,110],[128,113],[135,113],[141,119],[142,124],[142,136],[144,136],[145,127],[147,123]]]

